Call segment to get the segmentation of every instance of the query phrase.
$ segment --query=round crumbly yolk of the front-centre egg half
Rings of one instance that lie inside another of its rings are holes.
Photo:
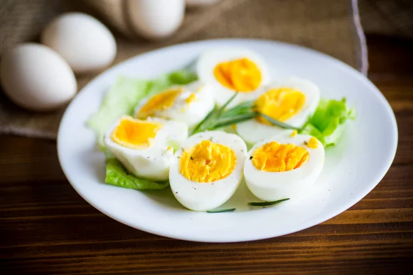
[[[208,183],[231,175],[237,163],[228,146],[203,140],[180,156],[180,173],[190,181]]]

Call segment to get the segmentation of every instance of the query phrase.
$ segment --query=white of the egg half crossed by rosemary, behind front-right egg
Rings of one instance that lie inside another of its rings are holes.
[[[317,109],[320,100],[319,87],[310,80],[291,76],[261,89],[255,93],[255,100],[270,89],[283,87],[297,89],[306,96],[306,102],[303,108],[299,110],[297,114],[284,121],[284,123],[291,126],[301,127],[306,123],[308,116],[313,115],[315,109]],[[279,126],[264,124],[257,120],[247,120],[246,122],[237,124],[236,131],[248,144],[255,144],[267,137],[273,137],[283,133],[284,129]]]

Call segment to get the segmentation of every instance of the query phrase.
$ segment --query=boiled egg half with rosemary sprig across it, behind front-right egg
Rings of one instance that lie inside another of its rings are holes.
[[[268,85],[256,94],[257,111],[291,126],[301,127],[317,108],[320,91],[310,80],[290,77]],[[237,133],[249,144],[282,133],[261,116],[237,124]]]

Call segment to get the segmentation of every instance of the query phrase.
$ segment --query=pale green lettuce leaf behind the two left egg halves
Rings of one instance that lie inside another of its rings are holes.
[[[179,70],[153,80],[142,80],[119,76],[103,98],[100,109],[87,120],[87,126],[94,130],[98,145],[104,151],[103,135],[114,121],[123,115],[132,115],[138,102],[145,96],[152,96],[171,85],[184,85],[197,79],[196,74]]]

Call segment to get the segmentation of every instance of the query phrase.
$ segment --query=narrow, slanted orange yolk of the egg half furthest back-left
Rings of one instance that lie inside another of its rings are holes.
[[[170,89],[153,96],[137,113],[138,118],[147,118],[148,116],[156,115],[157,111],[168,109],[181,93],[182,89]]]

